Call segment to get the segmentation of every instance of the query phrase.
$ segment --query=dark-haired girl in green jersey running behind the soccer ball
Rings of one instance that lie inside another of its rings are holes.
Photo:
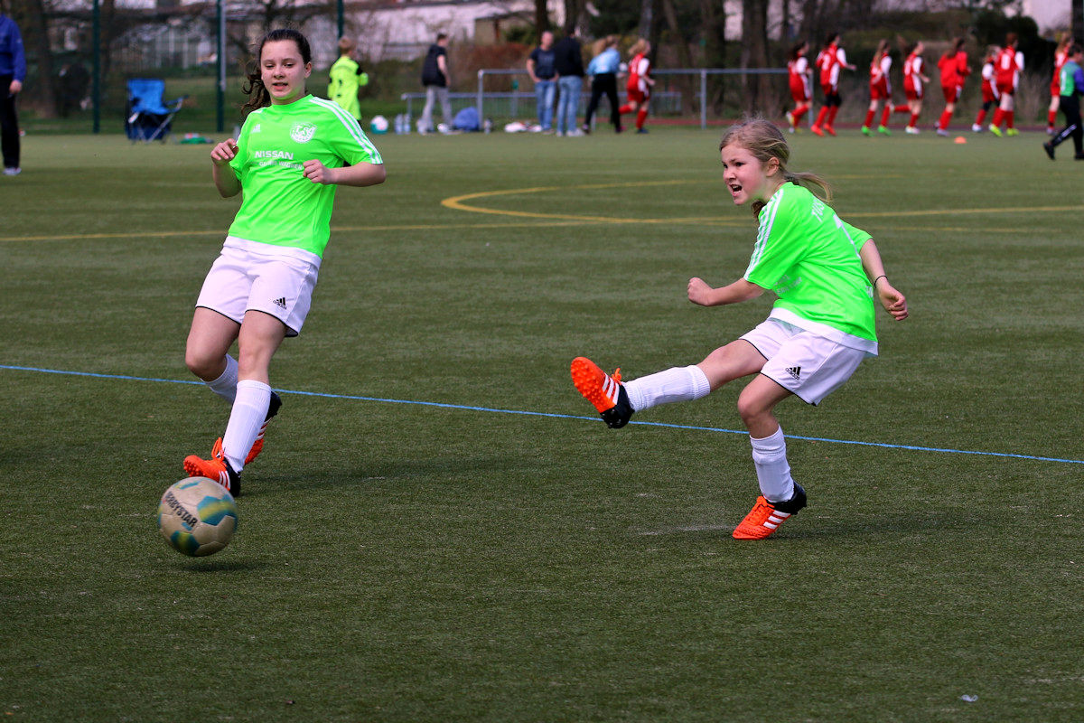
[[[385,178],[380,154],[358,121],[306,92],[312,54],[304,35],[271,30],[257,57],[244,89],[251,113],[236,140],[210,153],[215,188],[227,198],[240,193],[242,202],[199,292],[184,352],[192,373],[232,405],[210,459],[190,455],[184,470],[233,494],[279,411],[269,386],[271,357],[285,337],[300,333],[309,311],[335,189]],[[236,359],[229,353],[234,341]]]

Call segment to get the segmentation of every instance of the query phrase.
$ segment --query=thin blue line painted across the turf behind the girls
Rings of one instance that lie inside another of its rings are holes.
[[[193,384],[204,386],[203,382],[192,379],[163,379],[149,376],[128,376],[125,374],[100,374],[95,372],[72,372],[59,369],[41,369],[37,366],[13,366],[0,364],[0,369],[14,372],[38,372],[40,374],[65,374],[68,376],[89,376],[99,379],[128,379],[132,382],[162,382],[166,384]],[[493,406],[470,406],[468,404],[447,404],[444,402],[426,402],[413,399],[389,399],[386,397],[362,397],[360,395],[333,395],[322,391],[299,391],[295,389],[276,389],[282,395],[296,395],[298,397],[323,397],[326,399],[346,399],[363,402],[384,402],[387,404],[416,404],[418,406],[438,406],[442,409],[464,410],[468,412],[490,412],[494,414],[521,414],[525,416],[545,416],[558,419],[584,419],[588,422],[602,422],[597,416],[581,416],[577,414],[556,414],[553,412],[528,412],[522,410],[505,410]],[[668,424],[664,422],[630,422],[630,425],[642,427],[668,427],[670,429],[685,429],[688,431],[713,431],[727,435],[748,435],[744,429],[723,429],[722,427],[698,427],[687,424]],[[802,437],[800,435],[787,435],[787,439],[800,439],[808,442],[829,442],[833,444],[857,444],[861,447],[877,447],[890,450],[911,450],[914,452],[941,452],[944,454],[971,454],[978,456],[1009,457],[1012,460],[1032,460],[1035,462],[1060,462],[1063,464],[1084,464],[1084,460],[1063,460],[1060,457],[1044,457],[1034,454],[1014,454],[1010,452],[982,452],[978,450],[957,450],[946,447],[918,447],[915,444],[892,444],[889,442],[863,442],[854,439],[831,439],[830,437]]]

